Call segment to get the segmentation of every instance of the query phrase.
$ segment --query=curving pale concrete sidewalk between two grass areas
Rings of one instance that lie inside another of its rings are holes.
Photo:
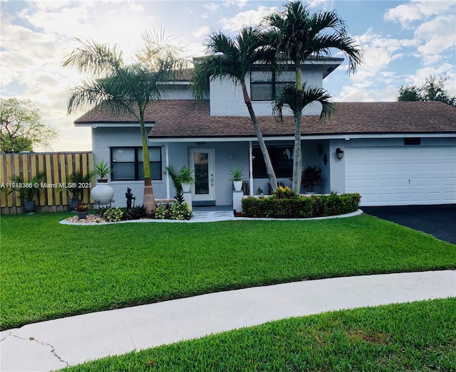
[[[78,315],[0,333],[0,371],[50,371],[287,317],[456,297],[456,271],[410,272],[239,289]]]

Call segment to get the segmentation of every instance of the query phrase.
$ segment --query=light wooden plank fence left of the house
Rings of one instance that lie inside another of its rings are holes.
[[[16,176],[29,181],[39,172],[45,176],[36,200],[37,211],[68,211],[68,175],[75,171],[85,175],[92,170],[92,152],[0,154],[0,213],[24,213],[19,193],[9,193],[9,184]],[[92,186],[95,185],[92,183]],[[90,200],[90,188],[84,189],[83,200]]]

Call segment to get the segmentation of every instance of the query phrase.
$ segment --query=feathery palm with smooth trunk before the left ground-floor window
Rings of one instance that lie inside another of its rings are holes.
[[[73,87],[68,97],[68,113],[74,110],[110,112],[112,115],[133,115],[140,124],[142,164],[144,167],[143,205],[147,213],[155,210],[155,198],[150,176],[145,110],[165,94],[163,84],[175,78],[182,68],[178,58],[180,48],[170,46],[164,33],[146,31],[143,44],[126,64],[118,46],[75,39],[81,44],[66,56],[63,67],[76,68],[79,73],[92,75],[91,80]]]

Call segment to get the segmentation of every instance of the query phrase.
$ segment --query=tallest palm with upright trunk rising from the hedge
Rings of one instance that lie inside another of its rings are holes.
[[[304,61],[311,56],[331,56],[331,51],[336,49],[348,57],[348,73],[353,73],[361,63],[362,51],[356,46],[354,38],[348,36],[346,25],[336,11],[310,14],[301,1],[290,1],[285,4],[284,11],[266,16],[264,23],[274,31],[270,42],[276,47],[276,58],[285,65],[292,63],[296,70],[292,189],[299,192],[302,170],[301,115],[304,107],[301,70]]]

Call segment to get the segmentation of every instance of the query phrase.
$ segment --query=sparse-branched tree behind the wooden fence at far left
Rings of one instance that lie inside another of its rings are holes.
[[[31,152],[36,145],[48,148],[58,137],[30,100],[0,98],[0,120],[1,152]]]

